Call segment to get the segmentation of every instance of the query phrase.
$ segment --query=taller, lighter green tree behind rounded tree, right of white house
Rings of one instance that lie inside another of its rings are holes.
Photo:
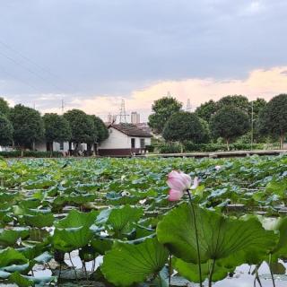
[[[163,126],[170,116],[177,113],[181,108],[182,104],[172,97],[155,100],[152,105],[152,114],[149,116],[149,126],[154,133],[161,134]]]

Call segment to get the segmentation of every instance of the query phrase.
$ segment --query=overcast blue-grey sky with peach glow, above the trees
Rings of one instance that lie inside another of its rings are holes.
[[[287,92],[286,0],[0,0],[0,95],[41,112],[150,112]]]

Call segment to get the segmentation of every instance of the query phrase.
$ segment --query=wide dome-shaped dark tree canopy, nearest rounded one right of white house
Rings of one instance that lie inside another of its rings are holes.
[[[201,143],[204,139],[204,126],[194,113],[180,111],[173,114],[164,126],[162,136],[167,141]]]

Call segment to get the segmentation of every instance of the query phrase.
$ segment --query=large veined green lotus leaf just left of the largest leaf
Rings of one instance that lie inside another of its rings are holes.
[[[156,238],[139,244],[116,242],[100,266],[102,274],[116,286],[143,283],[159,274],[167,262],[169,252]]]

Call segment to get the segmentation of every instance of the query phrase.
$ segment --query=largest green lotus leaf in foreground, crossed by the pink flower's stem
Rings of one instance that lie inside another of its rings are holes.
[[[231,219],[195,205],[201,263],[221,259],[228,267],[242,263],[257,264],[276,244],[273,231],[265,230],[257,218]],[[159,241],[184,261],[197,263],[194,215],[189,204],[180,204],[157,226]],[[232,256],[232,265],[228,258]],[[236,258],[236,261],[234,261]]]

